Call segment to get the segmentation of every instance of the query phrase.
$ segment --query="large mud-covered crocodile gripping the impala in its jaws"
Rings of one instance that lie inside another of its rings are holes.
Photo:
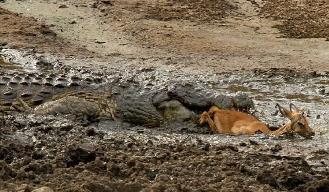
[[[109,118],[136,125],[159,126],[175,119],[190,120],[198,112],[250,109],[244,93],[224,95],[179,79],[154,76],[79,74],[71,72],[0,72],[0,111],[4,114],[74,114]]]

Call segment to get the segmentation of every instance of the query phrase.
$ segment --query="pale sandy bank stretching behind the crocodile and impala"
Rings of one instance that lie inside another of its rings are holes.
[[[14,48],[34,48],[66,60],[83,59],[72,63],[83,62],[84,66],[86,61],[103,66],[134,63],[200,72],[272,67],[304,73],[329,71],[326,38],[279,38],[282,34],[273,26],[281,23],[267,18],[268,9],[279,4],[270,1],[263,15],[262,1],[234,1],[223,4],[225,9],[212,15],[209,13],[216,9],[207,9],[214,7],[212,2],[204,1],[206,8],[201,9],[195,3],[187,4],[189,8],[176,1],[5,1],[0,4],[2,8],[29,17],[25,19],[31,20],[29,25],[47,26],[59,42],[49,43],[49,34],[15,33],[6,37],[3,33],[1,39]],[[13,26],[12,19],[2,20],[2,25]],[[21,31],[26,30],[30,29],[23,27]],[[25,42],[14,40],[17,36]],[[44,46],[34,40],[44,36]]]

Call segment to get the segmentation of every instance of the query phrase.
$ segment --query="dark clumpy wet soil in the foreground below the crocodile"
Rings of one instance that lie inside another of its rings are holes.
[[[198,135],[166,136],[136,128],[118,131],[112,126],[107,124],[105,133],[97,124],[86,130],[54,117],[8,121],[0,135],[0,190],[31,191],[41,186],[95,192],[329,189],[327,169],[316,170],[288,146],[252,140],[214,145]],[[328,151],[308,153],[313,160],[324,161]]]

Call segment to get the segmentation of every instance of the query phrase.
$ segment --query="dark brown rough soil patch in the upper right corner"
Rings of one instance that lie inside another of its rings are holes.
[[[276,25],[282,37],[329,37],[329,2],[325,0],[267,0],[261,9],[266,17],[283,20]]]

